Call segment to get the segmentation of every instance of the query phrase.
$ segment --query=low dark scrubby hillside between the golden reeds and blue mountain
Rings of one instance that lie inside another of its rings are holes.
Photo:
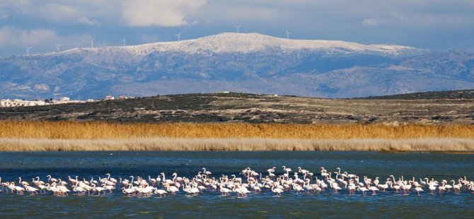
[[[7,107],[0,108],[0,118],[124,123],[474,124],[473,93],[474,90],[456,90],[360,99],[274,97],[245,93],[162,95],[78,104]]]

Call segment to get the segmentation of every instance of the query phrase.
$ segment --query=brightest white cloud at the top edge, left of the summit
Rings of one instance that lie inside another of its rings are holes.
[[[129,0],[123,4],[123,18],[130,26],[187,25],[187,17],[206,3],[207,0]]]

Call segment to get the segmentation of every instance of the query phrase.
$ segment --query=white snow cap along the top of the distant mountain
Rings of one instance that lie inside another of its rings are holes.
[[[325,50],[326,52],[354,53],[368,52],[398,55],[403,52],[419,51],[414,47],[398,45],[362,45],[355,42],[337,40],[288,40],[283,38],[261,35],[259,33],[232,33],[224,32],[219,35],[201,37],[194,40],[182,40],[179,42],[156,42],[145,45],[126,47],[100,47],[69,49],[62,54],[79,51],[89,52],[128,52],[137,56],[146,56],[151,52],[185,52],[188,54],[214,53],[250,53],[267,49],[277,49],[282,52],[293,52],[295,50]],[[52,53],[55,54],[55,53]]]

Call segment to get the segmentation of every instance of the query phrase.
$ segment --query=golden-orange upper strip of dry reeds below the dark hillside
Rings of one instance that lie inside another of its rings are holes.
[[[473,125],[384,124],[120,124],[106,122],[0,122],[0,138],[474,138]]]

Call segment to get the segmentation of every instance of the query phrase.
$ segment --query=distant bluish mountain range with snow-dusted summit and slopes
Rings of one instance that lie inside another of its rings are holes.
[[[98,98],[230,90],[366,97],[474,88],[474,54],[222,33],[180,42],[0,58],[0,97]]]

